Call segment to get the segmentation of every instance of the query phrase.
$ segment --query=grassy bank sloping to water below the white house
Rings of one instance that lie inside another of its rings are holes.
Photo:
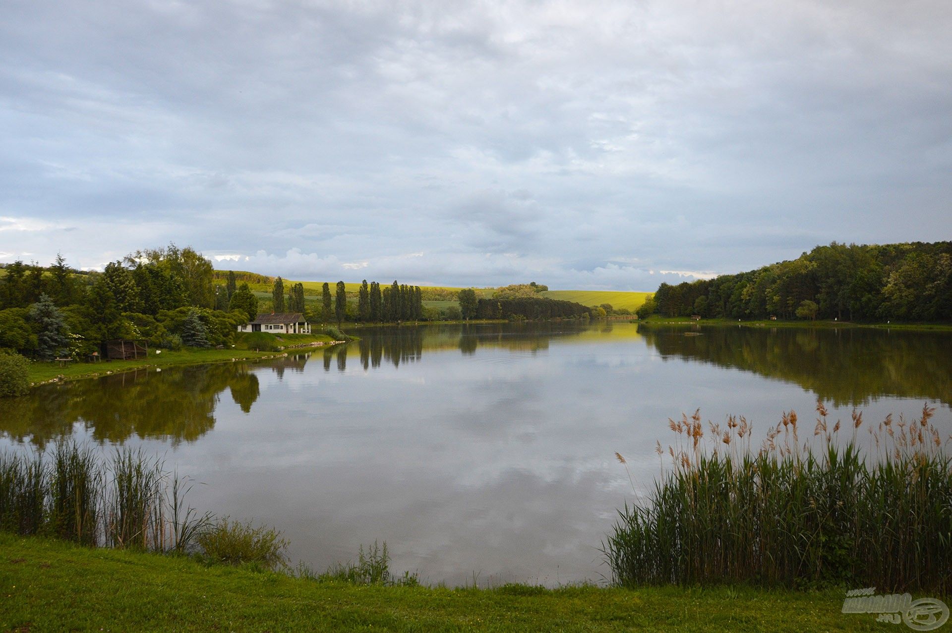
[[[271,344],[270,349],[255,349],[250,341],[245,340],[243,334],[238,334],[235,346],[227,349],[210,349],[184,347],[179,350],[163,349],[156,353],[149,349],[146,358],[130,361],[102,361],[100,363],[68,363],[60,366],[59,363],[44,363],[34,361],[30,363],[30,383],[40,385],[54,379],[73,380],[77,378],[95,378],[109,373],[129,371],[141,367],[167,367],[181,365],[203,365],[207,363],[227,363],[231,361],[247,361],[262,358],[273,358],[280,348],[298,345],[333,343],[333,339],[326,334],[283,334],[280,337],[264,332],[254,332]]]

